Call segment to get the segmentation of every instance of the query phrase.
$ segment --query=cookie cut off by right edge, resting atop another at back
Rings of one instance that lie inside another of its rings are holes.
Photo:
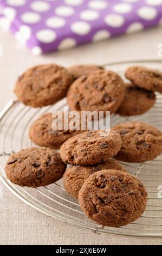
[[[162,72],[159,70],[148,69],[144,66],[130,66],[125,75],[138,87],[162,93]]]

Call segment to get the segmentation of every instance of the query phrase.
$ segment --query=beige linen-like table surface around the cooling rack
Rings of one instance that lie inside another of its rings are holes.
[[[3,48],[0,57],[0,109],[15,97],[12,89],[17,76],[30,66],[51,62],[68,66],[83,63],[103,64],[130,59],[160,59],[158,57],[160,43],[162,43],[161,27],[155,27],[96,44],[78,46],[72,50],[33,56],[25,46],[20,46],[12,35],[0,30],[0,45]],[[98,235],[93,234],[92,231],[60,223],[25,205],[7,188],[1,186],[3,188],[3,197],[0,199],[1,245],[162,245],[160,239]]]

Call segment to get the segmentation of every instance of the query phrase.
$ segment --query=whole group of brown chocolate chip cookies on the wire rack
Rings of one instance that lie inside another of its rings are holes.
[[[162,73],[132,66],[125,75],[129,83],[97,65],[65,69],[46,64],[20,76],[15,93],[19,101],[31,107],[54,104],[67,95],[70,110],[79,113],[145,113],[155,103],[154,92],[162,93]],[[29,137],[41,147],[22,149],[9,157],[5,172],[10,181],[38,187],[63,176],[66,191],[79,199],[91,220],[111,227],[137,220],[146,207],[145,187],[116,160],[153,160],[162,153],[162,132],[138,121],[116,125],[111,131],[83,131],[81,126],[77,130],[53,130],[53,120],[47,113],[31,125]],[[59,153],[56,149],[60,148]],[[71,164],[68,168],[67,163]]]

